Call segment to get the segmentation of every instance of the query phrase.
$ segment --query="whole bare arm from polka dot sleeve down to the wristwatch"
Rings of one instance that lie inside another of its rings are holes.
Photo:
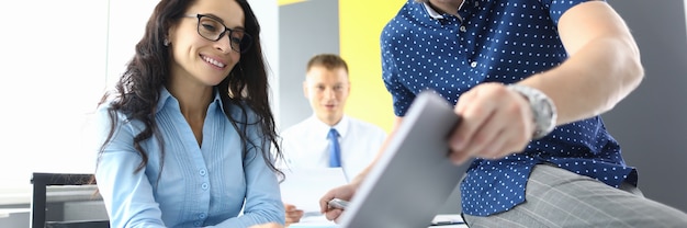
[[[639,48],[622,19],[605,2],[568,10],[559,31],[570,58],[520,82],[552,99],[558,125],[612,109],[641,82]]]

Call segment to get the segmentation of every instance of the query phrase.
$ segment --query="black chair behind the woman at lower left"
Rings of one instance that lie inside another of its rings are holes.
[[[85,173],[42,173],[34,172],[31,178],[33,184],[33,197],[31,198],[31,228],[110,228],[106,215],[93,216],[93,218],[65,220],[64,205],[67,203],[95,203],[97,207],[102,198],[97,193],[95,182],[92,174]],[[56,191],[48,191],[56,190]],[[59,205],[57,207],[52,205]],[[48,215],[55,210],[57,215]],[[87,213],[88,214],[88,213]]]

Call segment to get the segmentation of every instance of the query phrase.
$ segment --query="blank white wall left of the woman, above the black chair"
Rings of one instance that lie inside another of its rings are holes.
[[[106,12],[92,0],[0,8],[0,194],[25,193],[33,171],[92,167],[80,135],[104,86]]]

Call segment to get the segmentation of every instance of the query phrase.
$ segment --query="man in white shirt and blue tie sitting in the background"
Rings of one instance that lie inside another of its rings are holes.
[[[313,114],[281,133],[285,168],[340,167],[348,181],[372,162],[386,132],[344,113],[350,93],[348,65],[338,55],[312,57],[303,93]],[[286,225],[300,221],[303,210],[284,202]]]

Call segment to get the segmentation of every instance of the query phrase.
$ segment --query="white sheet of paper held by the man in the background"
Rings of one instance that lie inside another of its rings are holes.
[[[319,198],[329,190],[348,183],[341,168],[282,169],[282,201],[303,209],[305,216],[319,216]]]

